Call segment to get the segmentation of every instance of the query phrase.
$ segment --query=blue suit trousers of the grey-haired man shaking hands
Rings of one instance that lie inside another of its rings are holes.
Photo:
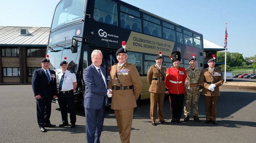
[[[101,131],[105,116],[105,102],[100,109],[84,108],[85,134],[87,143],[100,143]]]

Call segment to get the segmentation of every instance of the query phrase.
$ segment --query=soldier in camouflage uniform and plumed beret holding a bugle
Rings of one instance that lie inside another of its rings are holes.
[[[186,68],[187,73],[187,88],[185,94],[185,106],[184,106],[184,121],[189,120],[189,114],[191,111],[191,99],[193,103],[194,120],[200,122],[198,118],[198,101],[199,101],[199,78],[201,75],[201,69],[196,67],[195,54],[192,54],[192,59],[189,60],[190,67]],[[188,89],[188,84],[190,89]]]

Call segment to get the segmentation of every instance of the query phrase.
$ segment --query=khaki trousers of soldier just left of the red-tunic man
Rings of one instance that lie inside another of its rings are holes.
[[[155,106],[156,103],[158,111],[158,121],[164,120],[163,104],[164,104],[165,93],[153,93],[150,92],[150,119],[155,121]]]

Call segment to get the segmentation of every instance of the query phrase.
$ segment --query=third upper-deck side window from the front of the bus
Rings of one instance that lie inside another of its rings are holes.
[[[153,35],[155,37],[162,37],[162,30],[160,26],[160,20],[143,14],[143,27],[144,33]]]

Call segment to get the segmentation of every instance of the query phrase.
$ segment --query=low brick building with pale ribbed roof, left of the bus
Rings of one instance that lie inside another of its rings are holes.
[[[49,27],[0,26],[0,84],[29,84],[42,68]]]

